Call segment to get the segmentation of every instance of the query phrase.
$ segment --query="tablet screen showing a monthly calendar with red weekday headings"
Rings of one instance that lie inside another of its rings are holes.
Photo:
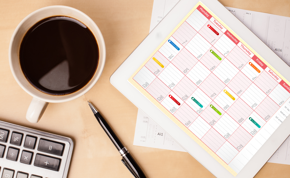
[[[290,83],[201,2],[128,81],[234,176],[290,114]]]

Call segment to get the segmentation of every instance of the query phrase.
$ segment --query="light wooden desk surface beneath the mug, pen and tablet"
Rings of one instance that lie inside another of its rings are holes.
[[[290,17],[289,0],[220,2],[229,7]],[[90,16],[104,36],[107,59],[101,78],[87,94],[66,103],[50,103],[41,120],[32,124],[25,118],[32,97],[12,76],[8,47],[18,23],[31,12],[49,5],[71,6]],[[0,1],[0,120],[72,138],[75,147],[69,178],[133,177],[94,118],[87,100],[102,112],[147,177],[214,177],[188,153],[134,146],[138,109],[109,82],[112,73],[148,35],[152,6],[153,0]],[[266,163],[255,177],[289,178],[290,165]]]

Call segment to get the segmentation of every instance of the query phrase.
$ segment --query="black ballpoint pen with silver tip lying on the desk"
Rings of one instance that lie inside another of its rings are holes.
[[[118,149],[119,153],[123,157],[121,160],[123,164],[128,168],[135,178],[146,178],[142,170],[139,168],[133,157],[130,155],[129,151],[123,146],[118,137],[115,135],[111,127],[108,125],[106,120],[102,117],[100,112],[88,101],[94,116],[100,123],[101,127],[104,129],[106,134],[109,136],[111,141],[114,143],[115,147]]]

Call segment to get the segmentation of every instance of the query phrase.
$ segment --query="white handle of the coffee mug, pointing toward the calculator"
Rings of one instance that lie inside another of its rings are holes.
[[[26,112],[26,119],[31,123],[37,123],[44,113],[47,105],[47,102],[33,97]]]

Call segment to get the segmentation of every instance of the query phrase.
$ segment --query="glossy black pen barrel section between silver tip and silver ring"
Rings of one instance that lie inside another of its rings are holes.
[[[114,131],[111,129],[109,124],[106,122],[106,120],[102,117],[102,115],[99,112],[97,112],[94,115],[95,115],[96,119],[98,120],[98,122],[100,123],[101,127],[104,129],[104,131],[108,135],[108,137],[114,143],[114,145],[118,149],[118,151],[123,149],[124,148],[123,144],[120,142],[120,140],[118,139],[118,137],[116,136]]]

